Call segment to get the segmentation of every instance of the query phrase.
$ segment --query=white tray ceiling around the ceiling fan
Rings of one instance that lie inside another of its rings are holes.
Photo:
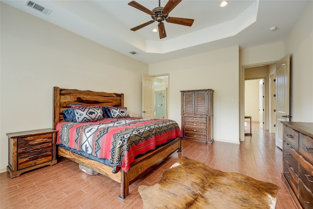
[[[49,15],[26,6],[27,0],[1,1],[152,64],[229,46],[245,48],[284,41],[310,0],[228,0],[224,8],[219,6],[222,0],[182,0],[169,17],[194,19],[193,25],[164,22],[167,37],[161,40],[158,32],[152,32],[157,22],[130,30],[152,20],[129,6],[131,0],[32,0],[52,10]],[[150,10],[158,6],[158,0],[136,2]],[[166,2],[161,0],[161,6]],[[269,31],[271,26],[277,30]]]

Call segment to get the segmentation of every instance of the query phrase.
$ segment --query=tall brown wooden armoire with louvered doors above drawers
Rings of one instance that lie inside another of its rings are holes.
[[[181,129],[184,139],[213,142],[212,89],[181,92]]]

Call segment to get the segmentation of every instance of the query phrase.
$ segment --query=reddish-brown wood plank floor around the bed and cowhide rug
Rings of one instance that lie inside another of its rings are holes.
[[[166,161],[130,186],[130,196],[120,200],[120,185],[102,175],[90,176],[77,163],[61,159],[47,166],[11,179],[0,174],[1,209],[140,209],[142,199],[137,191],[140,185],[153,185],[162,172],[181,156],[201,161],[212,168],[238,172],[257,180],[274,183],[278,191],[276,209],[296,209],[282,178],[282,150],[275,146],[275,135],[252,123],[252,137],[246,142],[231,144],[214,141],[205,144],[182,141],[182,153],[171,155]],[[249,130],[247,131],[249,132]]]

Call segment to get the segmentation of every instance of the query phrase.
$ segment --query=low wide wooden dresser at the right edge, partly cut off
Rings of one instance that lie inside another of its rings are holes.
[[[304,209],[313,209],[313,123],[287,122],[283,134],[283,177]]]

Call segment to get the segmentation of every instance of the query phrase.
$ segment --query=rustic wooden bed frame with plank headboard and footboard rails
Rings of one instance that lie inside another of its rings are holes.
[[[64,121],[63,110],[70,107],[70,104],[102,105],[102,106],[124,106],[123,93],[106,93],[80,91],[75,89],[60,89],[53,87],[53,128],[58,122]],[[120,169],[117,173],[112,173],[112,167],[77,155],[66,149],[57,147],[58,155],[65,157],[76,163],[80,163],[98,173],[111,178],[121,184],[121,194],[119,198],[125,199],[129,195],[129,186],[150,171],[157,164],[161,163],[175,151],[181,151],[181,140],[177,138],[172,142],[157,148],[139,158],[131,164],[130,170],[126,173]]]

